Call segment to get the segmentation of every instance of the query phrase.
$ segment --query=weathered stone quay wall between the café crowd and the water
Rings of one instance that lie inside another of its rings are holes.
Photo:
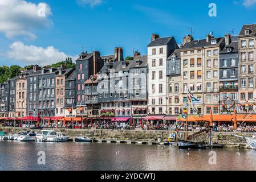
[[[13,127],[2,127],[1,131],[5,131],[7,133],[21,133],[22,131],[27,131],[29,129],[21,129],[21,128],[13,128]],[[169,138],[169,135],[173,133],[173,131],[145,131],[145,130],[96,130],[96,129],[53,129],[56,132],[64,132],[66,135],[69,135],[72,139],[79,135],[89,135],[90,137],[95,137],[96,139],[110,139],[110,140],[137,140],[137,141],[145,141],[145,142],[157,142],[160,139],[161,142],[166,142]],[[40,132],[40,130],[35,130],[36,132]],[[177,138],[183,137],[184,132],[180,131],[177,134]],[[188,135],[193,134],[193,132],[189,131]],[[233,133],[229,132],[212,132],[212,140],[214,143],[225,144],[226,147],[249,147],[246,144],[246,141],[241,138],[233,137]],[[237,133],[239,135],[245,137],[251,137],[253,133]],[[202,134],[199,137],[193,138],[193,142],[198,141],[209,141],[209,134]]]

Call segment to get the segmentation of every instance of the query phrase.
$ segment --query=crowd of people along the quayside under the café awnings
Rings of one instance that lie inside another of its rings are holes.
[[[9,123],[2,123],[1,126],[11,126],[11,127],[42,127],[42,128],[66,128],[66,129],[101,129],[101,130],[162,130],[162,131],[184,131],[185,126],[184,123],[181,123],[180,126],[177,127],[176,123],[161,123],[161,122],[143,122],[143,123],[133,123],[130,122],[94,122],[94,123],[71,123],[67,122],[65,125],[63,125],[63,122],[54,122],[50,123],[43,123],[42,125],[40,123],[15,123],[9,122]],[[204,130],[205,126],[200,125],[189,125],[188,131],[200,131]],[[221,124],[217,125],[217,123],[214,123],[213,125],[213,131],[215,132],[233,132],[233,126],[229,124]],[[256,133],[256,126],[254,125],[247,125],[246,123],[243,123],[243,125],[239,126],[237,131],[242,133]]]

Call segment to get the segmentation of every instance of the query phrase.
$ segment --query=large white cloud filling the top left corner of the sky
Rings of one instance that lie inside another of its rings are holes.
[[[46,3],[36,5],[23,0],[1,0],[0,32],[7,38],[25,36],[35,39],[36,35],[32,31],[50,26],[52,24],[50,15],[52,15],[51,7]]]

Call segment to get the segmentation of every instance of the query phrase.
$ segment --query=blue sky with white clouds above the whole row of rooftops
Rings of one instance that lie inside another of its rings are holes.
[[[216,16],[209,16],[210,3]],[[256,0],[0,0],[0,66],[75,60],[83,50],[147,54],[153,33],[204,39],[256,23]]]

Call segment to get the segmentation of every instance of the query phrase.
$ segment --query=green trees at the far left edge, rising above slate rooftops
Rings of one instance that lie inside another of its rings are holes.
[[[21,69],[18,65],[12,65],[11,67],[3,65],[0,67],[0,83],[3,84],[8,78],[14,78],[21,73]]]

